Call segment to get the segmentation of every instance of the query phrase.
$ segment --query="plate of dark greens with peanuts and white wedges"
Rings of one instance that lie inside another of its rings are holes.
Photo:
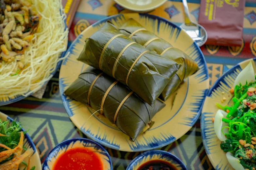
[[[256,169],[255,61],[244,61],[223,74],[204,102],[202,138],[217,170]]]

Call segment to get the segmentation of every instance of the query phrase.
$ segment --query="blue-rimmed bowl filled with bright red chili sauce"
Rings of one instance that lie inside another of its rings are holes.
[[[85,138],[61,142],[50,151],[43,170],[112,170],[109,153],[98,143]]]

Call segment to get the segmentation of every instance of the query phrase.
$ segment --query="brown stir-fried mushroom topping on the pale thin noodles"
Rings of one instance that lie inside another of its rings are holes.
[[[0,0],[0,67],[17,61],[15,70],[24,68],[24,52],[36,33],[40,15],[26,0]]]

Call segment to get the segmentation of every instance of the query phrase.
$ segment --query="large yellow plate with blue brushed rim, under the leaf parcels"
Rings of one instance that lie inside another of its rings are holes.
[[[200,70],[185,79],[177,91],[174,102],[170,97],[166,106],[157,113],[152,121],[154,125],[145,134],[131,142],[116,126],[103,117],[97,117],[90,106],[85,106],[63,95],[78,75],[88,66],[77,61],[84,47],[84,40],[97,31],[107,20],[120,27],[129,18],[133,18],[148,31],[154,32],[174,47],[187,53],[196,61]],[[169,35],[169,36],[166,36]],[[69,55],[60,69],[60,92],[64,107],[73,123],[88,137],[106,147],[122,151],[145,151],[157,149],[179,139],[191,129],[198,119],[204,99],[209,89],[209,75],[204,56],[193,39],[181,28],[163,18],[148,14],[118,14],[98,21],[84,30],[72,43]],[[172,106],[173,103],[173,106]]]

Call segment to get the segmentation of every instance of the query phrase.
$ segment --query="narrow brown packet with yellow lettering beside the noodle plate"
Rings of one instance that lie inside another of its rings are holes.
[[[70,28],[72,21],[74,19],[75,13],[77,11],[77,7],[81,0],[62,0],[62,6],[64,8],[65,13],[67,14],[67,26]]]

